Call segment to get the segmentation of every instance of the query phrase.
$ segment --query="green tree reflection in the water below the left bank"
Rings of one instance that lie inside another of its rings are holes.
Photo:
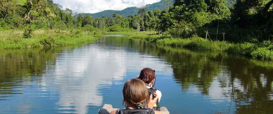
[[[25,86],[22,82],[39,81],[46,65],[55,64],[57,52],[64,48],[20,49],[0,51],[0,95],[20,94],[14,86]],[[26,79],[26,80],[24,80]]]

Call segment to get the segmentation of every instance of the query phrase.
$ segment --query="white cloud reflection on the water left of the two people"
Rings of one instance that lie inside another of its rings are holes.
[[[46,72],[44,85],[59,88],[59,110],[75,110],[86,113],[87,105],[101,106],[103,97],[99,86],[112,85],[111,80],[121,80],[126,72],[121,53],[96,46],[77,48],[63,52]],[[111,57],[111,61],[109,60]],[[73,107],[74,106],[74,107]]]

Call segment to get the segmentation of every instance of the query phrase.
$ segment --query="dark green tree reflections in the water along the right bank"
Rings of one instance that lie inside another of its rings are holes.
[[[221,88],[227,89],[222,91],[223,97],[235,102],[235,113],[273,112],[272,62],[155,46],[137,39],[119,40],[111,43],[165,59],[172,65],[174,78],[183,91],[195,85],[203,95],[209,95],[211,83],[217,80]]]

